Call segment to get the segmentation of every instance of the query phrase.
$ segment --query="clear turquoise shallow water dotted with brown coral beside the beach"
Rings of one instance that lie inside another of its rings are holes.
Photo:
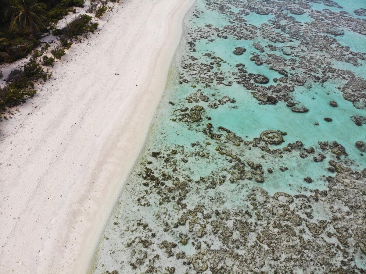
[[[365,273],[359,8],[197,0],[92,273]]]

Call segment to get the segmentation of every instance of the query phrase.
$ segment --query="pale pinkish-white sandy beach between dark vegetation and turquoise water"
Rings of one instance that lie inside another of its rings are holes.
[[[0,273],[87,272],[193,2],[116,5],[55,65],[56,79],[0,124]]]

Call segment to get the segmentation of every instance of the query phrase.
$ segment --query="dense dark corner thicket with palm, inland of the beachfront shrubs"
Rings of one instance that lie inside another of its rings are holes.
[[[0,63],[26,57],[41,33],[84,0],[0,0]]]

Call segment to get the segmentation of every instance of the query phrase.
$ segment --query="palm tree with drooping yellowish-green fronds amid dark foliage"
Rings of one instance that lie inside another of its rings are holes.
[[[10,30],[25,30],[35,36],[40,26],[43,26],[45,8],[46,4],[38,3],[37,0],[14,0],[8,11],[12,13]]]

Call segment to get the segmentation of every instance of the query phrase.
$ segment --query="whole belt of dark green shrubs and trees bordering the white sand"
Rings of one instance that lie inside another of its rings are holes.
[[[88,12],[94,12],[100,18],[109,8],[107,3],[107,0],[91,0]],[[0,119],[6,119],[6,108],[21,104],[36,93],[35,83],[51,77],[48,69],[42,66],[52,67],[55,59],[61,59],[65,50],[70,49],[73,40],[97,29],[98,23],[91,22],[93,17],[87,14],[78,15],[62,29],[56,29],[58,20],[70,12],[76,13],[75,7],[83,6],[84,0],[0,0],[0,69],[4,62],[31,54],[29,62],[11,71],[7,84],[0,86]],[[59,36],[59,45],[50,51],[48,43],[38,48],[42,34],[51,30],[53,35]],[[44,55],[46,51],[53,57]],[[3,78],[1,70],[0,78]]]

